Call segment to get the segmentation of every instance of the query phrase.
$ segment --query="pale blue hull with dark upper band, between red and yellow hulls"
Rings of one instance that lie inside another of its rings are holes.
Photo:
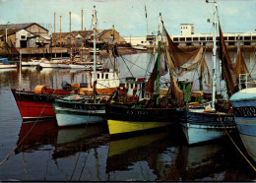
[[[83,103],[56,99],[53,103],[59,127],[94,124],[105,121],[103,103]]]

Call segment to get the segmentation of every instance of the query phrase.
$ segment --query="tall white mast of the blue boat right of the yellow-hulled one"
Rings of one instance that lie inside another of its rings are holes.
[[[216,24],[216,17],[217,17],[217,0],[214,0],[214,48],[213,48],[213,95],[212,95],[212,110],[216,111],[215,108],[215,100],[216,100],[216,30],[217,30],[217,24]]]

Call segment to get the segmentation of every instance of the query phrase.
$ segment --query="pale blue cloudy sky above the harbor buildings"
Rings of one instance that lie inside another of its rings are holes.
[[[213,2],[214,0],[209,0]],[[256,0],[217,0],[219,18],[224,32],[256,30]],[[37,23],[51,33],[92,30],[92,14],[96,6],[97,27],[111,29],[114,25],[121,36],[157,34],[161,13],[170,35],[180,34],[180,24],[194,24],[195,33],[212,33],[214,4],[205,0],[0,0],[0,24]],[[147,20],[145,16],[147,9]]]

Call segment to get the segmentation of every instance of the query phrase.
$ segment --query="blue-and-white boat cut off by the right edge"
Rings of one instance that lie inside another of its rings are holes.
[[[256,74],[255,74],[256,75]],[[247,77],[248,78],[248,75]],[[254,79],[255,80],[255,79]],[[251,83],[252,81],[250,81]],[[246,83],[247,85],[247,83]],[[248,154],[256,161],[256,83],[253,88],[235,92],[230,97],[235,124]]]

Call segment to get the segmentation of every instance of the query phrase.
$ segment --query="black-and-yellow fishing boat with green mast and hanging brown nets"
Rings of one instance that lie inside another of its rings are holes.
[[[161,25],[163,27],[160,16],[159,28]],[[164,27],[162,30],[165,30]],[[169,56],[171,52],[169,52],[166,42],[168,40],[165,35],[161,36],[160,33],[158,39],[158,57],[149,80],[147,82],[137,81],[132,84],[135,86],[134,88],[129,85],[123,86],[120,89],[123,91],[118,91],[117,99],[106,105],[107,124],[111,136],[134,134],[178,125],[177,119],[180,113],[176,110],[176,106],[184,103],[183,91],[177,87],[172,71],[173,64]],[[160,76],[167,73],[167,65],[170,74],[169,88],[165,89],[166,93],[160,94]],[[129,90],[134,93],[132,99],[128,99],[130,98],[127,95]],[[138,97],[136,92],[142,95],[138,95],[140,96]]]

